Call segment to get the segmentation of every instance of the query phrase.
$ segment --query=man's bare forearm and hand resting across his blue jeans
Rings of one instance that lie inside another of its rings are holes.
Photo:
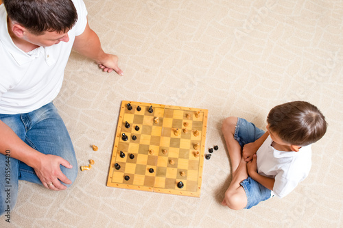
[[[60,170],[60,164],[67,168],[72,168],[67,160],[56,155],[45,155],[29,147],[8,125],[0,121],[0,153],[5,155],[6,151],[10,151],[10,157],[34,168],[36,175],[42,181],[45,188],[63,190],[67,187],[62,185],[60,181],[67,184],[71,183]],[[47,186],[49,183],[53,183],[53,185]]]

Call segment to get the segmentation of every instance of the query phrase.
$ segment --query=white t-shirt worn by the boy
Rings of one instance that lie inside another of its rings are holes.
[[[282,198],[309,175],[311,145],[301,147],[298,152],[278,151],[272,147],[272,142],[268,136],[257,151],[257,171],[265,177],[275,178],[273,192]]]

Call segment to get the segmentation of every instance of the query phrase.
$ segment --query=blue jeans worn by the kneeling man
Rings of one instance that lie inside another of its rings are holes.
[[[68,179],[75,180],[78,175],[75,151],[67,128],[53,103],[25,114],[0,114],[0,120],[29,147],[40,153],[58,155],[67,160],[73,168],[60,165],[60,169]],[[10,151],[7,152],[10,154]],[[0,153],[0,214],[8,210],[8,207],[13,210],[18,196],[19,180],[43,185],[32,167]]]

